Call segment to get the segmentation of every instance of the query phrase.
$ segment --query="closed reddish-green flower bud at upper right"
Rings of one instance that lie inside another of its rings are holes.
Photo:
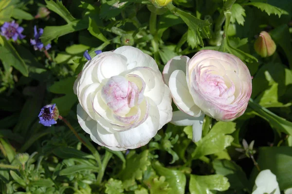
[[[276,50],[276,44],[269,33],[262,31],[256,39],[254,48],[261,57],[270,57]]]

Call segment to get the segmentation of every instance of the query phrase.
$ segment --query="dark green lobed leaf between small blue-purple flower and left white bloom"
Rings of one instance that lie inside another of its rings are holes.
[[[65,78],[60,81],[56,81],[49,90],[55,94],[64,94],[63,97],[56,97],[52,100],[52,103],[55,103],[59,109],[60,114],[68,115],[71,108],[77,101],[76,95],[73,93],[73,84],[75,78]]]

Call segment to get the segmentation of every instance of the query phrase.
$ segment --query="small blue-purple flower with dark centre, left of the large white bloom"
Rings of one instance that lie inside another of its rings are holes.
[[[46,127],[51,127],[51,125],[56,124],[57,123],[56,120],[59,117],[59,111],[56,104],[48,104],[44,106],[40,110],[38,117],[39,117],[38,123],[41,123]]]

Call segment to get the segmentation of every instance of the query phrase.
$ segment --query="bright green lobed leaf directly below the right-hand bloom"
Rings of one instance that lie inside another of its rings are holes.
[[[211,131],[197,142],[197,148],[192,153],[193,158],[200,158],[203,155],[211,155],[223,151],[231,145],[233,137],[230,135],[235,131],[236,123],[218,121]]]

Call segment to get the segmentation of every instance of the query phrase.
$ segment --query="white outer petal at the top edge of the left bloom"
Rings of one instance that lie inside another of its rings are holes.
[[[155,60],[135,47],[122,46],[114,50],[113,53],[121,54],[128,59],[128,69],[149,67],[155,71],[159,71]]]

